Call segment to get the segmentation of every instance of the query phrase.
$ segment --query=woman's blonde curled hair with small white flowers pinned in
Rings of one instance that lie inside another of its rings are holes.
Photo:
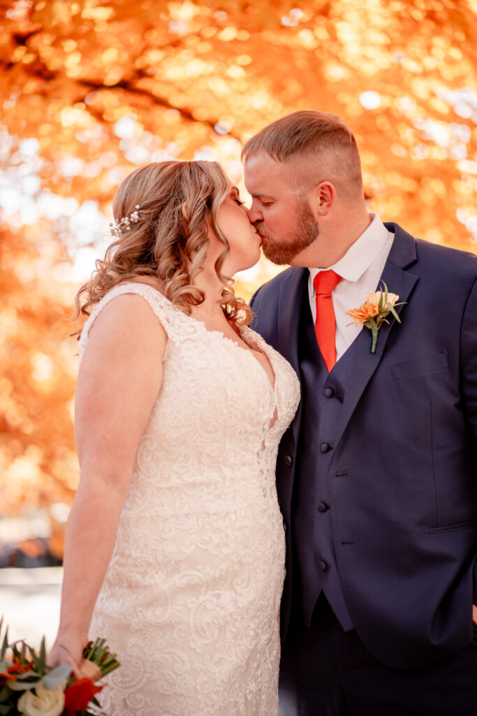
[[[125,281],[154,286],[190,314],[205,299],[194,281],[207,256],[210,226],[224,244],[215,262],[224,284],[220,305],[228,320],[249,324],[250,307],[235,296],[232,279],[221,271],[229,244],[217,225],[217,211],[229,192],[230,182],[217,162],[160,162],[129,174],[114,196],[113,214],[116,226],[125,217],[136,221],[122,223],[117,240],[96,261],[91,280],[77,293],[74,319],[89,316],[109,289]]]

